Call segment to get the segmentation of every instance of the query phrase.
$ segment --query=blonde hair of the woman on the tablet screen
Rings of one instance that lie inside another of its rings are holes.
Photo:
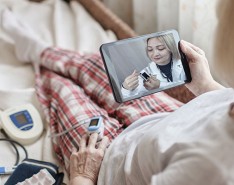
[[[165,35],[160,35],[160,36],[148,38],[146,40],[146,54],[147,54],[147,56],[148,56],[148,51],[147,51],[148,42],[152,38],[158,38],[158,40],[160,42],[162,42],[167,47],[167,49],[172,54],[172,59],[173,60],[179,60],[180,59],[180,54],[178,52],[177,45],[175,43],[175,39],[173,37],[173,34],[165,34]],[[148,58],[150,58],[150,57],[148,56]]]

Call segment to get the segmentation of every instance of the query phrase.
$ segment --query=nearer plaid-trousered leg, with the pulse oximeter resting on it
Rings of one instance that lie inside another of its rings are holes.
[[[57,134],[79,124],[66,134],[52,139],[53,146],[60,161],[69,166],[72,148],[79,148],[82,135],[86,134],[85,122],[94,116],[102,115],[104,119],[104,135],[110,140],[121,131],[122,125],[116,119],[110,118],[108,113],[98,107],[83,90],[69,79],[56,73],[41,70],[37,76],[36,89],[47,121],[50,123],[51,133]]]

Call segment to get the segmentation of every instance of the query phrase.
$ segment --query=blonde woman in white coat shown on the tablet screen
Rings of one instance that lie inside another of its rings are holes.
[[[151,62],[140,73],[134,70],[125,78],[121,88],[124,98],[186,80],[172,34],[148,38],[146,53]]]

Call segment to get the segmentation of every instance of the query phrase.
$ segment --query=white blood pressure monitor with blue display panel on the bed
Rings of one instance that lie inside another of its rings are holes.
[[[31,104],[9,108],[0,112],[0,128],[21,144],[35,142],[43,131],[39,112]]]

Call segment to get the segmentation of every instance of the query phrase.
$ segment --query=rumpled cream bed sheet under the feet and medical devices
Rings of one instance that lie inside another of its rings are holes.
[[[79,52],[98,52],[102,43],[116,40],[112,31],[105,31],[76,1],[68,5],[62,0],[42,3],[0,0],[0,12],[6,8],[30,25],[42,40],[54,46]],[[32,103],[40,111],[45,129],[38,141],[26,146],[29,158],[58,164],[48,137],[50,130],[35,94],[34,80],[32,66],[17,60],[13,41],[0,27],[0,109]],[[12,166],[16,158],[13,150],[3,142],[0,148],[0,166]],[[23,152],[20,150],[20,153],[22,159]],[[4,184],[8,177],[0,176],[0,184]]]

